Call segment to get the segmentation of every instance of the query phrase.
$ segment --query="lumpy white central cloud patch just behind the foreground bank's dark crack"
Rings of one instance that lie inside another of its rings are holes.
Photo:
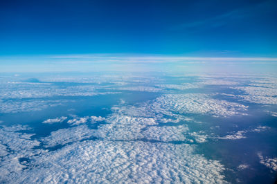
[[[190,132],[186,125],[160,126],[155,118],[136,118],[114,114],[93,132],[97,138],[107,140],[149,140],[188,143],[205,142],[204,132]]]

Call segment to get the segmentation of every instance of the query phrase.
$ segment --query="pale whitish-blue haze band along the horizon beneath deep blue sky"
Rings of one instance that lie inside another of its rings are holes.
[[[233,65],[226,67],[226,64]],[[244,66],[238,66],[244,64]],[[245,71],[274,72],[277,57],[197,57],[186,55],[37,55],[0,57],[0,72],[59,71]],[[265,67],[267,64],[267,67]],[[256,67],[257,66],[257,67]],[[186,67],[186,68],[184,68]],[[254,67],[254,68],[253,68]],[[232,70],[231,70],[232,69]]]

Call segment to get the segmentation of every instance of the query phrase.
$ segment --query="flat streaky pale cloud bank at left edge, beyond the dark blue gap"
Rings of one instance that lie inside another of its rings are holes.
[[[0,85],[0,113],[39,111],[47,107],[64,104],[69,100],[40,100],[60,96],[93,96],[120,92],[104,91],[96,85],[57,86],[39,82],[2,82]],[[72,101],[72,100],[70,100]]]

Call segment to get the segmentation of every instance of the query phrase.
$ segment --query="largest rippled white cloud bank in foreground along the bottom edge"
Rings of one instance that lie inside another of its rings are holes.
[[[32,160],[15,183],[226,183],[224,167],[190,145],[96,140],[74,143]]]

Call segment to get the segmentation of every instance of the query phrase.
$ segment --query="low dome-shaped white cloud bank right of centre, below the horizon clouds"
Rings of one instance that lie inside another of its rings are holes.
[[[153,101],[139,104],[138,106],[125,106],[111,108],[116,113],[135,117],[163,116],[175,117],[177,114],[199,113],[211,116],[244,116],[248,106],[226,100],[217,100],[212,95],[202,93],[166,94]]]

